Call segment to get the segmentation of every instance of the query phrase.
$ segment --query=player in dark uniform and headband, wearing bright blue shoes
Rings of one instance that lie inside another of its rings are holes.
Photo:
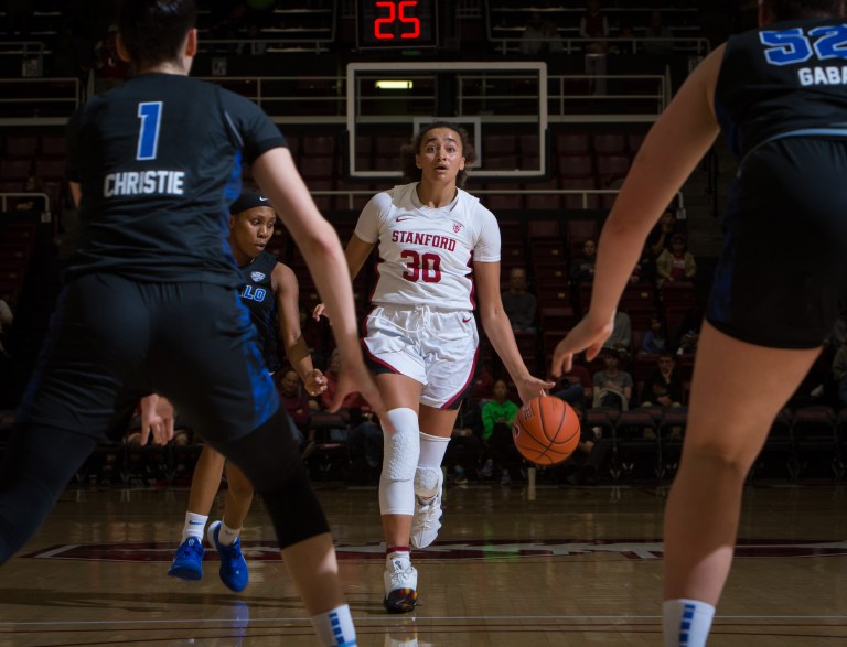
[[[245,192],[229,206],[229,245],[242,272],[239,295],[258,334],[259,349],[268,370],[280,367],[277,341],[290,365],[297,370],[312,396],[326,390],[328,380],[312,366],[309,348],[300,331],[299,287],[291,268],[265,248],[274,236],[277,214],[270,201],[256,192]],[[291,425],[298,445],[302,434]],[[212,504],[221,486],[224,456],[205,445],[200,454],[189,493],[189,509],[182,529],[181,544],[168,571],[182,580],[203,576],[203,536]],[[242,553],[239,533],[253,503],[253,484],[234,464],[226,464],[226,503],[222,520],[208,527],[208,543],[221,553],[219,575],[233,591],[247,586],[249,569]]]

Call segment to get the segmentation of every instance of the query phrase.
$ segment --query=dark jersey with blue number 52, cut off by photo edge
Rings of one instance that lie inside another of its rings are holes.
[[[785,21],[732,36],[715,109],[739,158],[786,134],[847,137],[847,24]]]

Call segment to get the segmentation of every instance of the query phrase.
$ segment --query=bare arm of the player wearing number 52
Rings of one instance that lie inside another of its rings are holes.
[[[715,142],[720,128],[712,101],[722,57],[723,46],[697,66],[639,149],[600,235],[589,312],[556,347],[553,375],[570,368],[573,353],[598,355],[647,235]]]

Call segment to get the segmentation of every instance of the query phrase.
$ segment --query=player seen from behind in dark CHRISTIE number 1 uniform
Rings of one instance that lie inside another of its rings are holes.
[[[242,161],[332,304],[343,355],[336,407],[357,390],[382,414],[352,288],[340,280],[346,263],[277,128],[248,100],[187,77],[194,22],[191,0],[125,0],[118,45],[139,74],[94,97],[69,127],[84,235],[0,470],[0,562],[32,536],[106,430],[161,393],[265,499],[321,641],[355,645],[326,520],[239,304],[226,234]],[[161,442],[172,425],[152,431]]]

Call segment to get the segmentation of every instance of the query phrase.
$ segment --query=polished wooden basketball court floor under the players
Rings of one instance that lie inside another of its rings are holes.
[[[665,494],[449,488],[439,541],[415,553],[418,610],[397,616],[380,603],[376,488],[320,492],[358,644],[374,647],[661,645]],[[165,575],[186,500],[179,488],[69,488],[0,569],[0,647],[314,645],[259,504],[243,535],[244,593],[221,583],[214,550],[202,581]],[[847,644],[845,504],[836,485],[748,489],[710,646]]]

